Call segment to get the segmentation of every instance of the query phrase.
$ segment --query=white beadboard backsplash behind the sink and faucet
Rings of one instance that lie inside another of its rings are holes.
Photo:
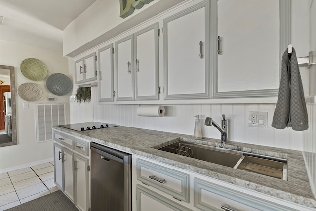
[[[212,117],[221,124],[222,114],[229,121],[229,140],[302,150],[301,131],[291,128],[275,129],[271,127],[276,104],[172,104],[164,105],[164,117],[137,116],[138,105],[97,105],[93,107],[94,121],[118,124],[165,132],[193,135],[194,115],[201,119],[202,135],[220,139],[220,132],[215,127],[205,126],[206,117]],[[268,128],[248,126],[249,111],[268,112]]]

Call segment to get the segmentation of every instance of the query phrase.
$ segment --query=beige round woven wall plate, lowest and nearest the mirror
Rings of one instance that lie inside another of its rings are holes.
[[[40,99],[43,94],[39,84],[35,83],[24,83],[18,87],[18,95],[25,101],[34,102]]]

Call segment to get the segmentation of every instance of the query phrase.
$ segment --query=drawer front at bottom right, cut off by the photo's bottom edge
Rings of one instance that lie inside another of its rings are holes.
[[[221,206],[234,211],[297,211],[199,178],[194,178],[194,206],[203,211],[218,211]]]

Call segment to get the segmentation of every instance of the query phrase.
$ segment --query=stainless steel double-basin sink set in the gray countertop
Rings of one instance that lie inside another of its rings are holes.
[[[286,159],[185,141],[177,141],[158,150],[287,180]]]

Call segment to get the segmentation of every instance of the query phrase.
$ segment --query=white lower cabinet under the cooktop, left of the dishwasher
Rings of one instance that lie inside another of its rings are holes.
[[[58,137],[54,139],[55,184],[80,211],[88,211],[90,209],[89,142],[55,130],[54,137]],[[65,146],[60,143],[65,137],[74,140],[71,148],[70,145]],[[74,145],[75,149],[73,149]]]

